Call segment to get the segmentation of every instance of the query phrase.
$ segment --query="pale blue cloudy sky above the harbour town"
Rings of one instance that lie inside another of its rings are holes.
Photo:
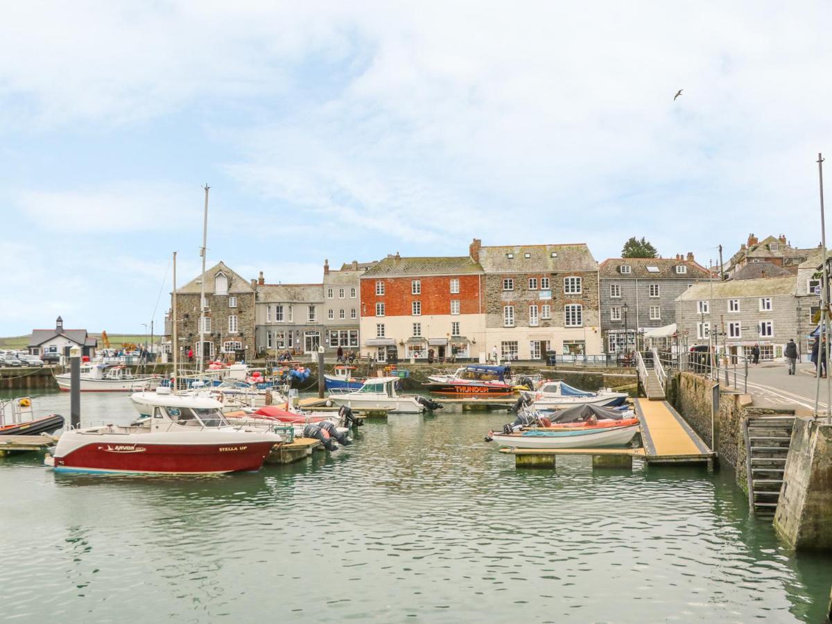
[[[631,235],[707,264],[820,242],[825,2],[12,2],[0,335],[161,326],[171,255],[324,259]],[[674,102],[673,96],[683,89]],[[832,151],[830,151],[832,154]]]

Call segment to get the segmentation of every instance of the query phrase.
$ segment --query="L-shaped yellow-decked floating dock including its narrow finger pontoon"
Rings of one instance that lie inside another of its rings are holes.
[[[705,463],[713,467],[711,452],[691,426],[667,401],[636,399],[636,416],[643,448],[501,448],[514,456],[517,468],[555,468],[558,456],[588,455],[592,468],[631,468],[632,458],[648,465]]]

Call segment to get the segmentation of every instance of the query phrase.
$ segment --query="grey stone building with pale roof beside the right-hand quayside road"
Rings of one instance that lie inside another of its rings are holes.
[[[686,346],[709,344],[718,351],[781,359],[789,339],[799,339],[797,276],[714,281],[691,286],[676,299],[676,325]]]

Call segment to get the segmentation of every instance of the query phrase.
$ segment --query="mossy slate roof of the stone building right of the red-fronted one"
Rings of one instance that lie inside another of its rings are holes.
[[[557,257],[552,257],[552,253]],[[514,257],[509,258],[512,254]],[[529,257],[525,257],[528,254]],[[498,245],[480,247],[479,264],[486,273],[554,273],[595,271],[598,263],[586,243],[574,245]]]

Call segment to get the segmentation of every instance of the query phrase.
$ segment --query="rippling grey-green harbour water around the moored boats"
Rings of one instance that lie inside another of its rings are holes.
[[[82,409],[135,417],[125,395]],[[829,558],[750,518],[729,471],[518,471],[483,442],[509,419],[391,416],[329,456],[212,478],[0,458],[0,619],[822,621]]]

